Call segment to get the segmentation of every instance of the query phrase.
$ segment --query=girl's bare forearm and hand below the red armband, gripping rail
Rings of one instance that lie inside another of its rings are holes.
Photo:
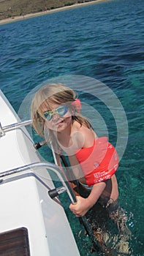
[[[94,184],[94,187],[92,188],[90,195],[87,198],[77,196],[77,203],[71,203],[69,206],[70,210],[77,217],[83,217],[86,214],[86,212],[92,206],[94,206],[96,201],[99,199],[100,195],[102,195],[102,192],[104,191],[105,187],[105,182]]]

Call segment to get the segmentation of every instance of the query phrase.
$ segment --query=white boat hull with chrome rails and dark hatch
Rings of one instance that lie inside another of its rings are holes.
[[[48,168],[71,201],[72,191],[56,165],[41,162],[25,127],[30,121],[20,121],[1,91],[0,122],[0,255],[80,255],[61,202],[48,195],[55,189]]]

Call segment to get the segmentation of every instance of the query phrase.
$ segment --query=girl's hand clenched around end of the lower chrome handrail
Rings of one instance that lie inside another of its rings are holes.
[[[69,209],[75,214],[76,217],[83,217],[91,208],[88,198],[76,196],[77,203],[70,204]]]

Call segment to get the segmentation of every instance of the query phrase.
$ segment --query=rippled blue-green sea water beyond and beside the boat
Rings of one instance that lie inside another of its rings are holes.
[[[125,126],[126,132],[126,121],[128,124],[127,144],[124,142],[125,151],[116,176],[119,200],[132,232],[129,255],[133,256],[144,255],[143,24],[143,0],[113,0],[0,26],[0,88],[17,112],[26,95],[36,86],[48,79],[61,80],[63,76],[99,80],[121,102],[126,120],[121,120],[117,127],[111,108],[100,104],[100,99],[94,97],[94,89],[90,87],[91,97],[87,97],[87,93],[81,96],[102,116],[102,124],[107,124],[113,142],[118,135],[116,129]],[[96,124],[99,134],[97,119]],[[45,149],[42,153],[47,155]],[[91,252],[91,241],[68,206],[65,202],[80,255],[102,255]]]

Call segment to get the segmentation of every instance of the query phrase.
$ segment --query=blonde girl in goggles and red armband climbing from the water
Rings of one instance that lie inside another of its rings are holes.
[[[69,206],[77,217],[83,217],[97,200],[106,208],[116,202],[118,154],[107,138],[98,138],[80,114],[75,91],[60,83],[42,87],[32,101],[31,119],[39,135],[48,133],[50,139],[57,140],[80,183],[91,187],[88,197],[77,196],[77,204]]]

